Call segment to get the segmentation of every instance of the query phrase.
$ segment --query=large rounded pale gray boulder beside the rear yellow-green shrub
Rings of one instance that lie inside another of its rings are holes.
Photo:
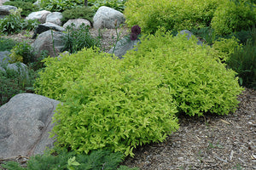
[[[97,29],[115,28],[125,23],[125,16],[113,8],[102,6],[94,15],[93,22],[93,26]]]

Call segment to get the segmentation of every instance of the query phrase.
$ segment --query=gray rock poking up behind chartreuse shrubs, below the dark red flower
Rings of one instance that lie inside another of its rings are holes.
[[[128,50],[131,50],[135,48],[137,43],[139,43],[140,40],[137,39],[135,41],[131,41],[130,37],[124,37],[123,39],[119,40],[115,46],[115,48],[111,48],[108,53],[109,54],[115,54],[116,56],[119,57],[119,59],[122,59],[123,55],[126,54]]]

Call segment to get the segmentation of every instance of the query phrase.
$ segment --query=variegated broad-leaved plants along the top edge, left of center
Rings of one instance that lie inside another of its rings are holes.
[[[41,0],[40,7],[51,12],[62,12],[84,4],[84,0]]]

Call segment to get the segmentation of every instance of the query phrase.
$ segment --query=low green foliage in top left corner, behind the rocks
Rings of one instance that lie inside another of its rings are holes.
[[[37,11],[39,8],[37,6],[33,5],[30,2],[24,2],[24,1],[9,1],[3,3],[3,5],[12,5],[17,8],[22,8],[21,16],[27,16],[28,14],[31,14],[33,11]]]

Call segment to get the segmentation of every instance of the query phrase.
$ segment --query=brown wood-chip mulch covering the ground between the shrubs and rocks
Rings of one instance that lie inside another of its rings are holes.
[[[102,37],[102,51],[108,51],[117,38],[115,29],[90,31],[94,37]],[[118,31],[120,38],[129,33],[127,28]],[[28,37],[27,32],[25,35],[10,37],[21,41]],[[141,170],[256,169],[256,90],[246,88],[238,99],[237,111],[228,116],[179,116],[177,132],[162,143],[137,147],[135,156],[122,164]],[[27,159],[12,158],[20,162]]]

